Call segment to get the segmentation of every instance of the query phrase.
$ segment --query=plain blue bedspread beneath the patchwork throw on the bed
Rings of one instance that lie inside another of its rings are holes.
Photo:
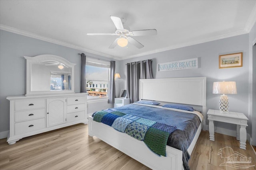
[[[190,155],[187,149],[196,134],[198,126],[200,125],[200,119],[197,115],[136,104],[106,109],[105,111],[120,111],[129,115],[135,115],[152,121],[157,121],[158,123],[176,126],[177,129],[168,137],[167,145],[182,150],[184,169],[190,169],[188,166]]]

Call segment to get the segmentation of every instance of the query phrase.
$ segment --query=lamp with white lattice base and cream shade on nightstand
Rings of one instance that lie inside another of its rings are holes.
[[[237,94],[236,82],[214,82],[212,87],[213,94],[223,94],[220,96],[219,109],[220,113],[228,113],[228,96],[225,94]]]

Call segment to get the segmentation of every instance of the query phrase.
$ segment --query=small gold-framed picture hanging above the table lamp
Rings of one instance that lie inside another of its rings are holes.
[[[242,67],[243,53],[226,54],[219,56],[219,68]]]

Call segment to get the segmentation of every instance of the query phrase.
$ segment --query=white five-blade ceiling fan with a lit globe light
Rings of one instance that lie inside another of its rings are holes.
[[[115,33],[87,33],[87,35],[118,35],[119,37],[116,38],[115,41],[108,47],[109,49],[113,49],[114,47],[116,47],[116,45],[119,45],[120,47],[125,47],[126,45],[128,45],[128,42],[137,47],[138,49],[141,49],[142,47],[144,47],[144,45],[132,38],[133,36],[157,35],[156,29],[130,31],[128,30],[129,28],[124,28],[124,25],[120,18],[114,16],[110,16],[110,18],[116,26]]]

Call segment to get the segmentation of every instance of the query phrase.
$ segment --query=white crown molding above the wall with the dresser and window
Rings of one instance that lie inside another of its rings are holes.
[[[81,51],[85,51],[85,52],[88,52],[88,53],[100,55],[100,56],[103,56],[103,57],[109,57],[109,58],[111,58],[111,59],[121,60],[120,57],[116,57],[116,56],[108,55],[108,54],[101,53],[101,52],[98,52],[98,51],[86,49],[86,48],[84,48],[84,47],[80,47],[80,46],[73,45],[73,44],[70,44],[70,43],[65,43],[65,42],[63,42],[63,41],[58,41],[58,40],[56,40],[56,39],[52,39],[52,38],[49,38],[49,37],[44,37],[44,36],[41,36],[41,35],[37,35],[37,34],[34,34],[34,33],[30,33],[30,32],[28,32],[28,31],[23,31],[23,30],[21,30],[21,29],[16,29],[16,28],[14,28],[14,27],[9,27],[9,26],[0,24],[0,29],[2,29],[2,30],[4,30],[4,31],[9,31],[9,32],[12,32],[12,33],[24,35],[24,36],[26,36],[26,37],[31,37],[31,38],[35,38],[35,39],[40,39],[40,40],[42,40],[42,41],[47,41],[47,42],[54,43],[54,44],[58,44],[58,45],[62,45],[62,46],[65,46],[65,47],[70,47],[70,48],[72,48],[72,49],[78,49],[78,50],[81,50]]]

